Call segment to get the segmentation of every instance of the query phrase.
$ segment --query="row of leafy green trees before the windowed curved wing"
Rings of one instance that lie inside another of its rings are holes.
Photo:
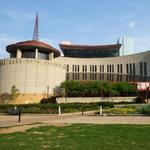
[[[127,82],[110,84],[107,81],[65,81],[60,88],[65,90],[65,96],[131,96],[137,93],[136,86]]]

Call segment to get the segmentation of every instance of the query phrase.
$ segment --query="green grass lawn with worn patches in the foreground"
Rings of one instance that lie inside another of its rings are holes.
[[[0,134],[0,150],[149,150],[149,125],[45,126]]]

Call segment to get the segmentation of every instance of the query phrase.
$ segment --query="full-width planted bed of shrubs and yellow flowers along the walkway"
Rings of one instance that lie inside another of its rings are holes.
[[[119,104],[122,104],[121,107]],[[61,113],[74,113],[85,111],[96,111],[99,113],[100,106],[103,108],[105,115],[150,115],[150,104],[133,104],[128,102],[113,103],[67,103],[67,104],[24,104],[17,105],[17,108],[22,110],[22,113],[43,113],[43,114],[58,114],[58,107],[61,106]],[[119,107],[118,107],[119,106]],[[7,113],[14,105],[0,105],[0,113]]]

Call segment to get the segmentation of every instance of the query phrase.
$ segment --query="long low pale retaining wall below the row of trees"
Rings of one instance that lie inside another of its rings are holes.
[[[59,97],[57,103],[133,102],[136,97]]]

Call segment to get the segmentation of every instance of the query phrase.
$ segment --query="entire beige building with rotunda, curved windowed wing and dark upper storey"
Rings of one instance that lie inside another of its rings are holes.
[[[59,50],[36,40],[11,44],[6,47],[10,58],[0,60],[0,102],[37,103],[65,80],[149,82],[150,51],[119,56],[120,46],[60,44],[60,56]],[[19,97],[4,99],[13,85]]]

